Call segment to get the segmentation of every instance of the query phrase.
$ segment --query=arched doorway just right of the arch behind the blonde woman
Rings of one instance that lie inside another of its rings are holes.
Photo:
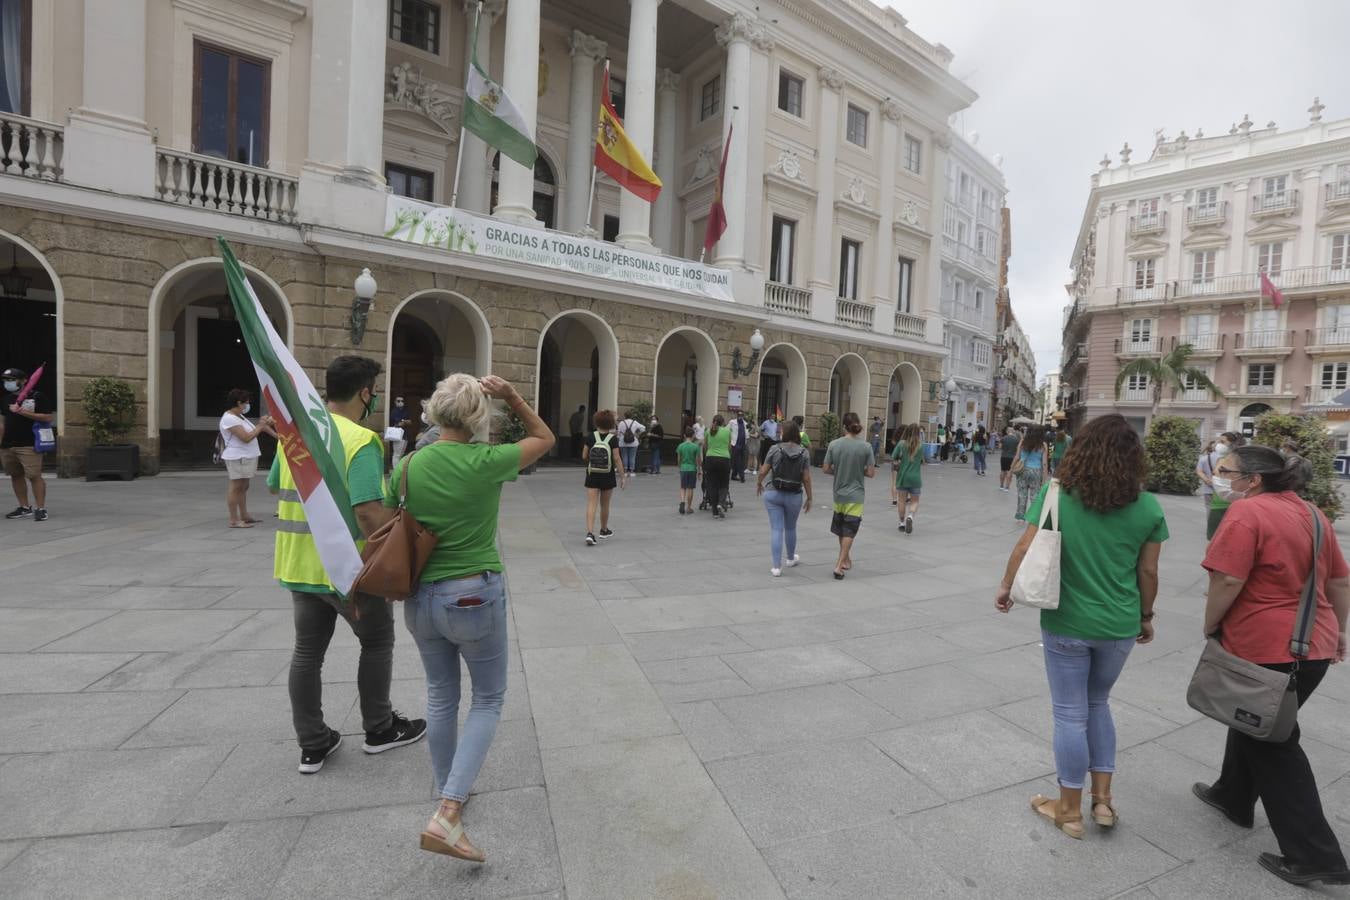
[[[539,336],[535,409],[559,436],[555,456],[571,456],[570,420],[585,407],[583,432],[597,409],[618,406],[618,340],[599,316],[572,309],[555,316]]]

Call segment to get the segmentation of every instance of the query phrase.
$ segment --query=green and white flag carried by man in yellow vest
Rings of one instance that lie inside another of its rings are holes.
[[[286,349],[263,313],[258,294],[230,244],[224,237],[216,240],[220,242],[220,255],[225,263],[225,285],[230,287],[235,318],[244,333],[267,410],[277,420],[278,449],[286,455],[286,464],[296,479],[300,502],[309,519],[309,532],[328,580],[339,594],[347,596],[360,572],[362,560],[356,549],[360,530],[351,511],[347,479],[340,464],[346,459],[342,437],[305,370]]]

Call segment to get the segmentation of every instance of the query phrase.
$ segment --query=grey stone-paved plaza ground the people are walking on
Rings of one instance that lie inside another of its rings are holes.
[[[254,530],[224,528],[220,474],[53,482],[49,522],[0,521],[0,896],[1307,895],[1257,866],[1276,850],[1264,814],[1243,831],[1189,793],[1223,742],[1184,696],[1197,499],[1162,501],[1157,641],[1115,691],[1120,827],[1075,842],[1027,807],[1054,791],[1050,706],[1035,614],[992,606],[1019,532],[995,476],[930,467],[910,537],[878,478],[845,582],[828,503],[801,521],[803,564],[771,579],[753,484],[714,521],[675,514],[672,472],[637,478],[616,536],[587,548],[580,479],[545,470],[504,494],[512,680],[466,811],[481,868],[417,849],[424,745],[370,757],[351,739],[342,626],[325,707],[350,739],[296,772],[261,479]],[[401,623],[394,679],[421,715]],[[1350,846],[1347,714],[1335,667],[1304,746]]]

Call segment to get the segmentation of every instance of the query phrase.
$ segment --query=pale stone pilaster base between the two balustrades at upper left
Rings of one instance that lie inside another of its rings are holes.
[[[85,0],[84,93],[66,127],[65,179],[119,194],[154,196],[155,147],[146,127],[146,0]]]

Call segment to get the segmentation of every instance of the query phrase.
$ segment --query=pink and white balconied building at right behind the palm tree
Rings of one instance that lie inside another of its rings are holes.
[[[1102,161],[1073,250],[1062,405],[1071,428],[1120,413],[1145,429],[1153,385],[1120,367],[1179,344],[1222,390],[1165,390],[1160,414],[1203,439],[1269,410],[1342,412],[1350,389],[1350,119],[1278,131],[1158,135],[1146,162]],[[1282,291],[1261,297],[1265,271]]]

